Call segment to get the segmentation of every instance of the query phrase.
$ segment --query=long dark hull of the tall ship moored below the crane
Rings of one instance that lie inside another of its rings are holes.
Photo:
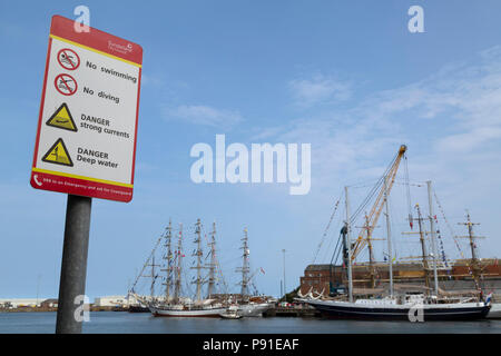
[[[342,303],[328,300],[307,301],[323,316],[328,318],[353,318],[372,320],[410,320],[410,315],[419,318],[418,309],[411,310],[412,306],[372,306],[356,303]],[[475,320],[485,318],[490,306],[478,303],[463,305],[424,305],[422,308],[422,320]]]

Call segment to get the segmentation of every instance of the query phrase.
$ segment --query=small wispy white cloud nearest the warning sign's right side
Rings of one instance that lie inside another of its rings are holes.
[[[222,110],[203,105],[181,105],[175,109],[166,109],[167,119],[179,119],[189,123],[233,127],[243,121],[238,111]]]

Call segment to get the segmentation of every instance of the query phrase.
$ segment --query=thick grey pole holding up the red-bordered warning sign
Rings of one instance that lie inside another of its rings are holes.
[[[56,334],[81,333],[75,315],[81,304],[75,298],[86,293],[91,205],[91,198],[68,195]]]

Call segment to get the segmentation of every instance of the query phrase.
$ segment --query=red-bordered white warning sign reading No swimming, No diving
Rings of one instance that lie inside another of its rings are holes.
[[[141,63],[139,44],[52,17],[33,188],[132,199]]]

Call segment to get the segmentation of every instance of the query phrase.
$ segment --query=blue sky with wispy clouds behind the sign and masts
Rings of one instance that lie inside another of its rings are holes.
[[[499,1],[1,0],[0,297],[35,296],[38,279],[40,296],[58,294],[66,196],[32,189],[29,172],[50,18],[75,18],[79,4],[92,27],[144,48],[134,200],[94,199],[91,298],[126,293],[169,217],[189,237],[196,218],[207,230],[216,220],[234,288],[245,226],[253,269],[266,271],[259,291],[279,294],[285,248],[291,289],[343,186],[376,179],[401,144],[411,180],[433,180],[455,233],[464,234],[456,222],[468,208],[488,237],[481,256],[501,255]],[[424,9],[424,33],[407,31],[412,4]],[[216,134],[248,147],[311,142],[310,194],[289,196],[283,184],[194,184],[189,150],[214,147]],[[422,190],[413,187],[413,204],[425,204]],[[353,206],[363,192],[354,189]],[[399,194],[395,186],[396,230],[406,216]],[[403,245],[402,255],[414,248]]]

